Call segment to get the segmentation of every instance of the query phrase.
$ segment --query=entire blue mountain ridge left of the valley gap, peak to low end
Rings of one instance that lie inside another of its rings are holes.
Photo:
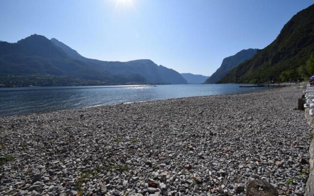
[[[26,82],[29,78],[31,81]],[[43,82],[45,78],[54,81],[48,84]],[[61,85],[58,79],[63,81],[62,85],[67,79],[72,83],[66,85],[186,84],[180,73],[148,59],[129,62],[89,59],[57,39],[36,34],[17,43],[0,42],[0,84],[19,84],[23,80],[23,85],[38,85],[34,80],[40,80],[42,85]]]

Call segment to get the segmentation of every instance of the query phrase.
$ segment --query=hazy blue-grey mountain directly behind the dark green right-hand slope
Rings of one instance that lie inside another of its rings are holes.
[[[234,69],[240,63],[251,59],[258,49],[242,49],[237,52],[233,56],[229,56],[224,58],[221,63],[221,66],[213,73],[204,83],[205,84],[213,84],[220,80],[223,76],[230,72],[230,70]]]

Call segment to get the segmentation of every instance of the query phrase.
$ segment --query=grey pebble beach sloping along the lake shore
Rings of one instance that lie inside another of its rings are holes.
[[[0,195],[244,195],[263,179],[301,196],[312,135],[302,91],[0,118]]]

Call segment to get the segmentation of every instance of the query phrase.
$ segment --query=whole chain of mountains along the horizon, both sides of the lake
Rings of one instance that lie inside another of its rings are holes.
[[[264,49],[244,49],[223,59],[210,77],[178,73],[149,59],[128,62],[86,58],[57,39],[31,35],[0,41],[0,84],[68,86],[116,84],[256,83],[305,78],[314,53],[314,5],[298,12]],[[285,77],[283,77],[285,76]],[[292,76],[291,76],[292,77]]]

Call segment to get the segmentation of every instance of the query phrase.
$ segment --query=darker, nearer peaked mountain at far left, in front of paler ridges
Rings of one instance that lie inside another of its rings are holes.
[[[49,39],[31,35],[17,43],[0,43],[0,73],[15,75],[55,75],[112,81],[105,71],[69,58]]]

